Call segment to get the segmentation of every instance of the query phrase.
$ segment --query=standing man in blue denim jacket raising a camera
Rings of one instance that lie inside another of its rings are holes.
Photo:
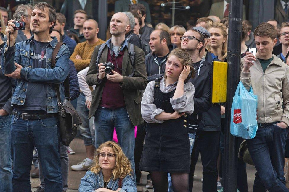
[[[38,3],[31,15],[30,27],[34,35],[30,39],[15,45],[17,30],[13,28],[13,20],[6,29],[8,41],[4,45],[2,71],[16,79],[11,100],[14,107],[11,121],[13,191],[31,191],[29,172],[34,146],[42,160],[46,191],[62,191],[54,84],[60,84],[63,100],[62,82],[68,75],[70,52],[62,45],[56,56],[56,66],[51,68],[57,39],[49,34],[55,21],[55,9],[49,4]]]

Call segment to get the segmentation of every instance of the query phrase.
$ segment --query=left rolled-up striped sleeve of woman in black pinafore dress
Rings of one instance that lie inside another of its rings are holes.
[[[164,112],[162,109],[158,109],[154,101],[154,84],[155,81],[151,81],[147,84],[147,87],[144,92],[144,96],[142,97],[142,118],[147,123],[163,123],[163,120],[155,119],[155,116]]]

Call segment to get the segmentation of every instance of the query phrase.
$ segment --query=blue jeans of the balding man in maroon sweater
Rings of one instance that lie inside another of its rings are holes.
[[[100,144],[113,140],[114,127],[118,137],[118,144],[124,154],[131,162],[134,181],[134,125],[129,120],[127,110],[122,107],[118,109],[107,109],[99,107],[95,112],[95,148]]]

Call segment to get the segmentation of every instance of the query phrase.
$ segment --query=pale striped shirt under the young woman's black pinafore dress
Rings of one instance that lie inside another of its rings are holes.
[[[165,78],[163,77],[160,80],[160,91],[164,93],[171,92],[176,89],[176,84],[169,84],[166,87]],[[163,120],[155,119],[156,115],[164,112],[162,109],[158,109],[154,102],[154,85],[155,81],[151,81],[147,84],[145,88],[144,95],[142,97],[142,118],[144,118],[147,123],[163,123]],[[194,111],[194,93],[195,88],[194,85],[190,82],[184,84],[184,95],[179,98],[174,99],[173,97],[170,99],[170,103],[172,107],[177,112],[185,112],[188,114],[192,114]]]

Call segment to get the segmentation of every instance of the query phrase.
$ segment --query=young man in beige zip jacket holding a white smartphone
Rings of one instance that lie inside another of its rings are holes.
[[[277,43],[273,25],[259,24],[254,37],[256,56],[249,51],[241,59],[241,81],[258,96],[258,131],[253,139],[246,139],[257,170],[253,192],[288,192],[283,169],[289,125],[289,67],[272,55]]]

